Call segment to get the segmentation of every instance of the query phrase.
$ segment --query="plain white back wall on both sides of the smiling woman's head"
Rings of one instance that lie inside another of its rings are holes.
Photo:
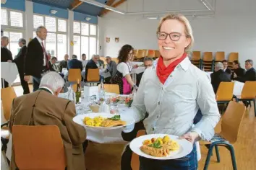
[[[188,17],[195,37],[192,50],[225,51],[226,58],[231,52],[239,52],[242,66],[248,58],[256,63],[256,3],[249,1],[251,4],[232,4],[230,9],[227,9],[231,5],[228,2],[217,3],[213,18]],[[121,9],[125,9],[125,5]],[[101,55],[117,57],[124,44],[130,44],[136,49],[158,48],[155,32],[159,20],[111,12],[106,17],[99,18],[98,22]],[[109,43],[106,43],[106,37],[111,38]],[[114,41],[115,37],[119,37],[118,43]]]

